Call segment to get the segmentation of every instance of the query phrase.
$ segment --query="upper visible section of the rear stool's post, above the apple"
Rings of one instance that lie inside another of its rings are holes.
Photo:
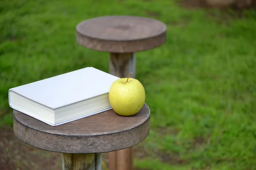
[[[130,73],[132,78],[135,78],[136,59],[134,53],[111,53],[109,60],[110,74],[125,78]]]

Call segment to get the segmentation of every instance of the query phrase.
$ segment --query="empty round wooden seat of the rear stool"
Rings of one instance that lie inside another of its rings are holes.
[[[166,25],[147,17],[96,17],[76,26],[76,40],[79,45],[98,51],[144,51],[166,41]]]

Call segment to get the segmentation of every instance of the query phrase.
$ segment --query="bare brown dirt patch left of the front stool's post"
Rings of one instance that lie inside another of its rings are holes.
[[[61,153],[21,142],[12,128],[0,129],[0,170],[54,170],[62,167]]]

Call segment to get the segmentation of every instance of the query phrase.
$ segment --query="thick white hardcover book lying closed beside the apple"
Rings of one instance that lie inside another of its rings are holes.
[[[108,92],[119,77],[93,67],[10,88],[9,105],[51,126],[112,109]]]

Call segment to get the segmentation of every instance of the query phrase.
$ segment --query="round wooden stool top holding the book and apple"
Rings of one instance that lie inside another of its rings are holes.
[[[146,104],[134,116],[113,110],[52,127],[14,110],[14,133],[23,142],[60,153],[104,153],[142,142],[150,129]]]

